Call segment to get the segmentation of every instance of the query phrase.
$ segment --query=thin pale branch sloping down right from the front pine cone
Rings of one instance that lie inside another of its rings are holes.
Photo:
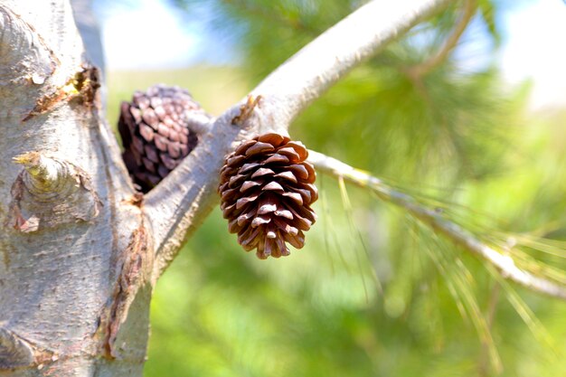
[[[433,231],[439,232],[448,240],[492,264],[501,272],[504,278],[508,278],[534,292],[566,300],[566,287],[562,287],[545,278],[534,276],[530,272],[518,268],[514,264],[514,260],[508,255],[493,249],[457,223],[449,221],[440,213],[418,203],[410,195],[391,189],[390,186],[384,184],[379,178],[357,170],[350,165],[345,165],[335,158],[314,151],[308,151],[308,161],[315,165],[319,172],[342,177],[348,182],[370,189],[383,201],[402,207]]]

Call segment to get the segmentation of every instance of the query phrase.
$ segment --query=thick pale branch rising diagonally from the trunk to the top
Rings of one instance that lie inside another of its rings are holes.
[[[180,245],[217,203],[218,172],[235,144],[258,133],[287,133],[291,121],[335,81],[455,0],[374,0],[307,44],[251,91],[261,98],[242,126],[232,125],[245,100],[216,119],[191,155],[146,196],[158,278]],[[255,103],[255,102],[254,102]],[[250,108],[247,108],[250,110]]]

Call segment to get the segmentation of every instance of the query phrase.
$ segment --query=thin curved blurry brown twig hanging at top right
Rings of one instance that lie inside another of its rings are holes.
[[[460,40],[460,37],[466,30],[467,24],[469,24],[474,14],[476,14],[476,0],[466,0],[466,4],[464,5],[464,9],[458,23],[454,26],[452,33],[448,35],[446,42],[444,42],[439,51],[432,55],[428,60],[422,61],[420,64],[409,67],[404,71],[412,78],[420,78],[429,73],[429,71],[438,67],[448,58],[450,52],[454,50]]]

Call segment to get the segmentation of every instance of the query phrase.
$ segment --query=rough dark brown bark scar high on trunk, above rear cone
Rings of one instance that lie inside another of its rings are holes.
[[[76,100],[81,105],[91,108],[97,102],[99,88],[99,70],[88,63],[83,63],[80,70],[64,86],[37,99],[35,107],[22,119],[22,122],[52,110],[61,102]]]

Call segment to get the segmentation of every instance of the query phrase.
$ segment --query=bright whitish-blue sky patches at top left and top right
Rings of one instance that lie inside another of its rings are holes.
[[[235,59],[222,47],[222,41],[207,33],[204,24],[187,25],[183,14],[163,0],[105,3],[98,14],[111,71],[167,69]],[[515,2],[503,14],[502,24],[505,38],[497,58],[505,80],[513,85],[532,79],[533,108],[566,105],[566,5],[561,0]],[[468,53],[462,55],[472,55],[469,61],[481,60],[481,47],[476,52],[473,44],[467,48]]]

